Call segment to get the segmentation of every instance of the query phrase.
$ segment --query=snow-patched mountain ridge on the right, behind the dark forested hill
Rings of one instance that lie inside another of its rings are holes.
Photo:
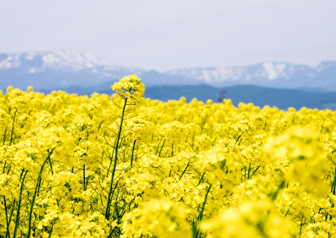
[[[252,84],[276,88],[318,87],[336,90],[336,61],[322,62],[316,67],[264,62],[244,67],[176,69],[166,74],[194,78],[217,87]]]

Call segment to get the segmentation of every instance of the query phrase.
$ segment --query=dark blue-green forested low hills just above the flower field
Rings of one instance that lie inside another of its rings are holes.
[[[111,85],[106,90],[99,90],[99,93],[111,95]],[[269,105],[279,109],[287,110],[289,107],[300,109],[302,107],[336,110],[336,92],[311,92],[296,89],[265,88],[254,85],[238,85],[225,87],[226,98],[230,98],[235,106],[240,102],[253,103],[263,107]],[[199,101],[206,102],[211,99],[218,102],[218,94],[221,88],[209,85],[182,85],[182,86],[153,86],[146,87],[144,96],[161,101],[178,100],[184,96],[187,102],[194,97]],[[66,89],[69,93],[79,95],[90,95],[93,91],[89,88],[70,87]],[[50,91],[44,91],[49,93]]]

